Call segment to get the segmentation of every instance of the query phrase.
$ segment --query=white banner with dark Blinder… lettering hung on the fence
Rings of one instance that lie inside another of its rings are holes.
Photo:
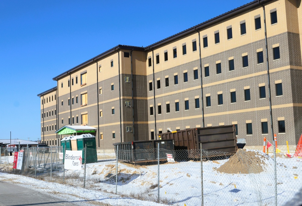
[[[66,150],[64,157],[64,168],[66,170],[82,169],[82,151]]]

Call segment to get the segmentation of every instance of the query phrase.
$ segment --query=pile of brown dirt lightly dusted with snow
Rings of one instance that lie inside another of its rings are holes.
[[[263,166],[266,166],[265,159],[268,159],[268,157],[264,153],[238,149],[236,154],[221,165],[217,171],[228,174],[261,173],[263,172]]]

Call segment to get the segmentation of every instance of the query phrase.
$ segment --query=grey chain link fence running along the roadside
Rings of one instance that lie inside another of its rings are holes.
[[[295,153],[294,147],[277,150],[274,160],[272,148],[268,154],[87,148],[82,170],[64,169],[62,147],[26,148],[22,170],[5,172],[169,205],[288,205],[302,187],[302,161],[287,155]],[[0,168],[12,168],[12,157],[1,149],[5,164]],[[292,205],[302,204],[301,199]]]

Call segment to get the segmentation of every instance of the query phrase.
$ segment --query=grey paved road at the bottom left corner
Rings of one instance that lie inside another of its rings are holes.
[[[0,181],[0,206],[28,205],[74,206],[76,204],[41,194],[32,189]]]

